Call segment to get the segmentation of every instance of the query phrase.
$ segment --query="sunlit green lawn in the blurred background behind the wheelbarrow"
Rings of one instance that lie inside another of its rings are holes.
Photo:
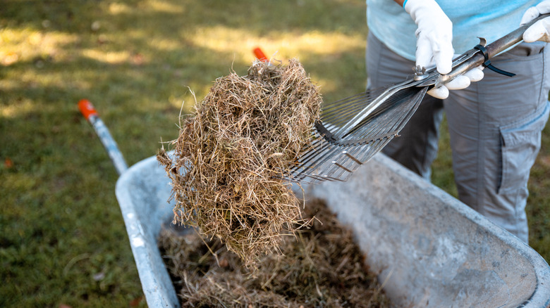
[[[298,58],[326,101],[365,89],[365,1],[3,0],[0,307],[144,307],[114,186],[77,103],[128,165],[175,139],[182,108],[252,49]],[[550,140],[530,180],[530,243],[550,260]],[[434,183],[456,195],[448,134]]]

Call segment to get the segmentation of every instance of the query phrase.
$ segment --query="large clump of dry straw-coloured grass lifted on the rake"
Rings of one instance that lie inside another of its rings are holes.
[[[283,225],[302,221],[280,177],[312,138],[321,103],[298,60],[256,62],[244,77],[216,79],[183,119],[174,157],[159,151],[172,180],[174,220],[221,238],[248,265],[278,252]]]

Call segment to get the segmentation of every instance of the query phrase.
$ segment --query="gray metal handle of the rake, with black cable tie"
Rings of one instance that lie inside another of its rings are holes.
[[[520,41],[523,41],[523,33],[525,30],[527,30],[528,27],[532,26],[534,23],[537,23],[537,21],[550,17],[550,14],[543,14],[539,17],[535,18],[534,20],[531,20],[529,23],[526,23],[525,25],[519,27],[518,29],[506,34],[505,36],[501,37],[500,39],[497,39],[496,41],[492,42],[491,44],[485,46],[485,49],[487,50],[487,56],[490,58],[493,58],[497,54],[501,53],[502,51],[505,51],[506,49],[511,48],[515,44],[518,44]],[[456,65],[451,72],[449,72],[446,75],[441,75],[439,77],[439,83],[445,84],[446,82],[451,81],[458,75],[462,75],[465,72],[468,72],[468,70],[471,70],[472,68],[476,68],[479,65],[482,65],[485,62],[485,57],[481,51],[467,51],[466,53],[474,53],[471,58],[468,60],[465,60],[465,62],[460,63]]]

